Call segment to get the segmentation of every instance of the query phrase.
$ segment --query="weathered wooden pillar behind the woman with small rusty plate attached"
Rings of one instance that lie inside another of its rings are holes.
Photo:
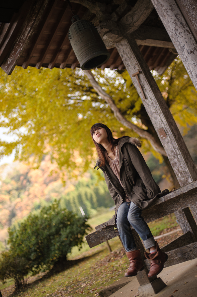
[[[124,29],[122,34],[124,35]],[[164,146],[180,185],[190,183],[197,178],[196,166],[136,41],[131,35],[126,36],[116,44],[116,48]],[[138,78],[144,96],[137,77],[132,76],[137,72],[140,72]],[[176,212],[177,220],[183,233],[190,231],[195,238],[197,226],[189,208],[185,209],[185,212],[187,216],[183,211]]]

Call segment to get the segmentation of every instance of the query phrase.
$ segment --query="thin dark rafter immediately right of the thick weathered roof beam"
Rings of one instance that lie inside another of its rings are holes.
[[[49,19],[51,18],[51,15],[52,15],[53,10],[54,10],[56,5],[57,5],[57,0],[55,0],[55,1],[51,0],[49,2],[49,7],[47,8],[47,10],[46,10],[46,12],[44,14],[44,18],[43,18],[43,20],[42,20],[42,22],[41,22],[41,24],[40,24],[40,26],[38,28],[38,32],[36,33],[36,36],[35,36],[35,38],[34,38],[34,40],[32,42],[32,47],[30,48],[30,50],[28,52],[28,55],[26,56],[25,61],[23,62],[22,67],[24,69],[26,69],[28,67],[28,65],[30,63],[30,60],[31,60],[31,57],[32,57],[35,49],[37,48],[39,40],[40,40],[43,32],[45,31],[47,23],[48,23]]]

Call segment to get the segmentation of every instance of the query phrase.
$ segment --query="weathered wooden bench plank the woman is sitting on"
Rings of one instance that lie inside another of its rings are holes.
[[[197,181],[193,181],[156,200],[151,207],[142,211],[142,216],[149,223],[168,214],[172,214],[174,211],[189,207],[196,202]],[[107,224],[108,222],[105,222],[96,226],[95,229],[97,231],[86,236],[90,248],[119,235],[118,230],[114,230],[116,225],[108,226]]]

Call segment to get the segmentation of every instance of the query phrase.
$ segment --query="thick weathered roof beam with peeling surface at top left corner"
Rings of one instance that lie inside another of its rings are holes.
[[[36,0],[30,2],[31,5],[29,6],[29,12],[23,22],[23,26],[21,27],[19,34],[16,36],[12,48],[7,54],[5,62],[1,65],[1,68],[7,74],[12,73],[17,61],[25,49],[25,46],[35,31],[48,2],[49,0]]]

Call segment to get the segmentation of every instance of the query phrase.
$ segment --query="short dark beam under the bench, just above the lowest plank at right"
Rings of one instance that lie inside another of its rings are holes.
[[[176,239],[172,240],[168,244],[164,245],[164,247],[161,248],[161,251],[166,253],[169,251],[172,251],[173,249],[178,249],[180,247],[183,247],[185,245],[188,245],[192,242],[196,242],[193,238],[193,234],[188,231],[181,236],[177,237]]]

